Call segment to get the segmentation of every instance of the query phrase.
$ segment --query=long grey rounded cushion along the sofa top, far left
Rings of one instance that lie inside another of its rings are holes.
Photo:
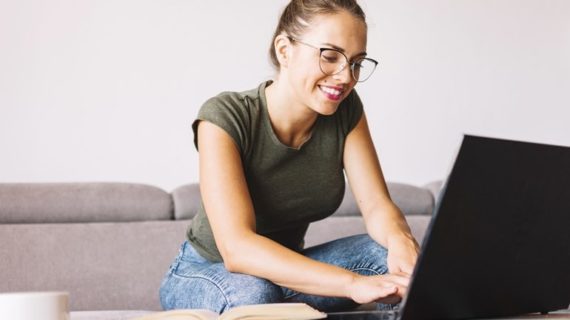
[[[172,219],[170,195],[132,183],[0,183],[0,223]]]

